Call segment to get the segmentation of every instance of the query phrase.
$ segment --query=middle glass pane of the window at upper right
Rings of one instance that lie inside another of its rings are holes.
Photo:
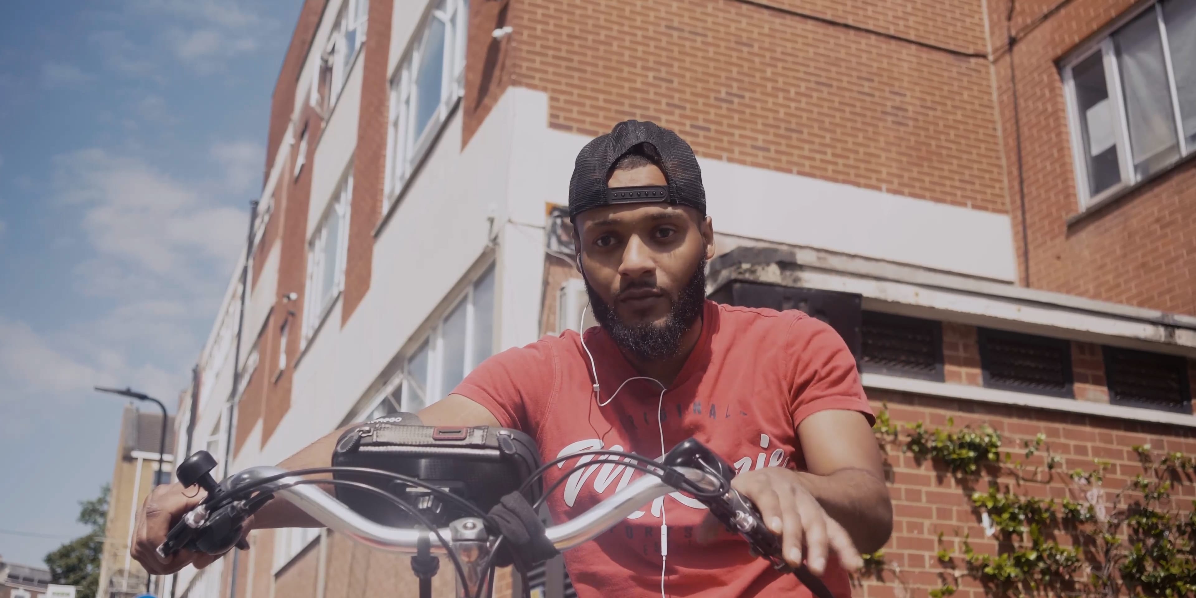
[[[1159,17],[1143,12],[1113,35],[1113,43],[1125,92],[1130,155],[1135,172],[1143,177],[1179,157]]]

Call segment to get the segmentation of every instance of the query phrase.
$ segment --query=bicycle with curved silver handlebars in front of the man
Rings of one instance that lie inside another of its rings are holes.
[[[391,421],[399,420],[402,417],[391,419]],[[379,421],[383,422],[379,426],[385,426],[383,420]],[[377,425],[377,422],[370,423]],[[362,427],[359,429],[362,431],[361,434],[365,434],[366,429],[373,433],[372,431],[383,428]],[[460,440],[469,433],[477,433],[490,434],[507,443],[513,434],[518,434],[514,431],[501,428],[495,431],[487,427],[426,429],[407,427],[401,428],[401,431],[404,438],[410,438],[413,433],[426,433],[423,435],[432,439]],[[414,451],[405,452],[419,453],[419,446]],[[532,506],[535,512],[544,499],[572,474],[572,471],[563,474],[556,484],[547,492],[538,493],[536,492],[537,484],[542,484],[541,478],[548,468],[555,466],[567,458],[586,454],[618,458],[621,465],[637,469],[648,475],[635,480],[612,496],[602,500],[568,521],[530,530],[531,533],[543,533],[543,537],[536,538],[537,541],[547,539],[556,551],[568,550],[604,533],[657,498],[679,490],[691,494],[706,505],[709,512],[728,530],[738,532],[746,541],[748,549],[753,555],[767,559],[775,569],[782,573],[797,575],[816,597],[832,598],[826,586],[808,569],[804,566],[791,567],[781,559],[779,538],[764,526],[755,505],[731,488],[730,482],[736,475],[734,470],[726,460],[692,438],[675,446],[661,460],[606,450],[573,453],[536,468],[529,476],[519,481],[518,490],[507,493],[504,500],[507,496],[531,496],[536,500]],[[428,457],[425,454],[422,458]],[[438,462],[440,465],[451,466],[454,457],[450,451],[434,458],[444,459]],[[536,457],[533,460],[538,464],[539,459]],[[600,463],[596,459],[578,465],[573,470]],[[199,451],[179,464],[177,469],[179,482],[184,487],[199,486],[203,488],[207,496],[171,529],[166,541],[158,547],[159,556],[165,559],[183,549],[222,555],[233,547],[248,548],[242,539],[243,525],[268,501],[281,498],[327,527],[343,533],[355,542],[374,549],[413,554],[411,568],[420,580],[421,598],[431,598],[431,580],[439,568],[439,559],[434,554],[446,555],[453,563],[457,573],[457,598],[489,596],[494,579],[494,560],[509,533],[495,531],[496,526],[501,526],[495,524],[492,517],[493,506],[490,511],[487,511],[469,502],[459,494],[451,492],[453,484],[447,484],[448,488],[446,488],[443,481],[441,483],[432,483],[395,471],[344,465],[295,471],[285,471],[276,466],[255,466],[233,474],[218,484],[210,475],[215,465],[215,459],[206,451]],[[315,474],[334,474],[334,476],[354,476],[355,478],[313,480],[301,477]],[[378,484],[360,481],[371,477],[389,480],[408,490],[417,490],[420,506],[404,501],[395,493],[379,488]],[[354,500],[359,505],[361,504],[360,496],[364,495],[385,500],[409,515],[409,519],[404,521],[413,521],[417,525],[385,525],[379,523],[378,517],[371,519],[350,508],[337,496],[315,488],[316,484],[350,489],[355,493]],[[452,505],[454,508],[444,509],[441,508],[444,505]],[[438,513],[464,513],[465,517],[453,514],[451,515],[453,519],[447,521],[447,525],[441,526],[438,523],[444,521],[433,521]],[[519,568],[520,573],[525,573],[525,569],[526,567]],[[526,592],[526,584],[524,584],[524,588]]]

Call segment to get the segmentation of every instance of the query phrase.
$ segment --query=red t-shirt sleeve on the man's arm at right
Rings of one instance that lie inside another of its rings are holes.
[[[808,316],[794,319],[789,325],[787,364],[794,428],[810,415],[828,409],[859,411],[869,426],[875,423],[855,356],[830,324]]]

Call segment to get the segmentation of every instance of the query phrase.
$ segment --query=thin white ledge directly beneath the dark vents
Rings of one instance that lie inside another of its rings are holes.
[[[910,392],[933,397],[957,398],[960,401],[1027,407],[1031,409],[1046,409],[1050,411],[1067,411],[1097,417],[1112,417],[1117,420],[1166,423],[1170,426],[1196,428],[1196,416],[1194,415],[1155,411],[1153,409],[1142,409],[1137,407],[1111,405],[1106,403],[1090,403],[1072,398],[1056,398],[1043,395],[1031,395],[1029,392],[1012,392],[1008,390],[986,389],[983,386],[919,380],[915,378],[902,378],[898,376],[885,376],[867,372],[864,373],[861,378],[865,389],[892,390],[897,392]]]

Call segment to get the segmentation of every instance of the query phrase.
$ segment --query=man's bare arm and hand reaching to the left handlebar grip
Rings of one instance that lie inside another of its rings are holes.
[[[448,395],[443,401],[438,401],[422,409],[419,416],[427,426],[499,425],[499,421],[490,415],[488,409],[460,395]],[[331,465],[336,440],[346,429],[348,427],[337,429],[316,440],[280,463],[279,466],[285,470],[297,470]],[[323,475],[313,477],[331,478],[332,476]],[[330,488],[328,487],[325,490]],[[195,565],[197,568],[203,568],[216,559],[210,555],[183,550],[171,559],[163,560],[157,553],[157,548],[166,539],[166,533],[170,532],[171,526],[202,500],[202,490],[199,495],[189,496],[189,493],[177,482],[169,486],[159,486],[146,498],[145,505],[141,507],[141,513],[138,517],[132,553],[133,557],[145,566],[146,570],[151,574],[165,575],[182,569],[187,565]],[[321,524],[299,508],[287,501],[275,500],[267,502],[250,521],[246,521],[245,531],[248,533],[250,529],[317,526],[321,526]]]

